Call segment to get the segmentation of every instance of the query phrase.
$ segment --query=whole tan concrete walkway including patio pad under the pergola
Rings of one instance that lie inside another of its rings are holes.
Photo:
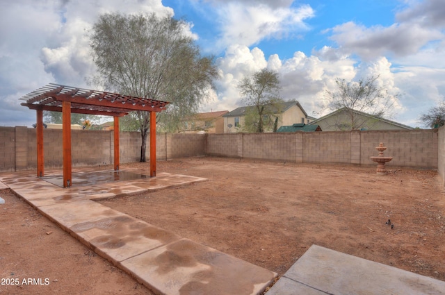
[[[29,173],[0,174],[0,187],[13,189],[156,294],[260,294],[272,283],[277,273],[92,201],[206,180],[170,174],[149,178],[144,173],[78,169],[69,189],[59,187],[60,176],[51,171],[44,179]]]

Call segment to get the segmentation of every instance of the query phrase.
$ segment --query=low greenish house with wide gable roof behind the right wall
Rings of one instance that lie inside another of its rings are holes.
[[[355,128],[351,128],[352,119],[351,111],[354,118]],[[366,112],[359,112],[358,110],[351,110],[349,108],[340,108],[330,114],[327,114],[310,123],[311,125],[319,125],[323,131],[343,131],[343,130],[411,130],[410,126],[406,126],[395,121],[375,117],[366,114]]]

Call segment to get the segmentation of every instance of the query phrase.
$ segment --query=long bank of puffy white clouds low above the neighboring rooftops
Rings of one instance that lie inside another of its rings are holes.
[[[315,117],[330,112],[324,108],[326,91],[337,90],[336,78],[358,81],[360,78],[380,76],[378,85],[384,87],[390,99],[394,101],[393,119],[410,126],[419,126],[416,121],[419,114],[413,115],[421,99],[417,94],[429,97],[424,100],[426,106],[434,106],[437,101],[443,99],[445,70],[438,75],[437,71],[422,67],[394,67],[384,57],[376,58],[372,62],[357,62],[348,56],[337,59],[323,58],[327,51],[331,50],[325,48],[319,56],[306,56],[305,53],[296,51],[293,58],[287,60],[280,60],[277,55],[272,55],[266,60],[261,49],[249,50],[242,45],[229,47],[225,56],[218,59],[222,76],[218,81],[218,99],[205,106],[203,111],[234,110],[242,106],[236,87],[238,82],[244,76],[264,67],[280,74],[281,95],[284,100],[298,100],[308,115]],[[429,82],[419,87],[421,77],[418,75]],[[396,98],[396,94],[400,96]]]

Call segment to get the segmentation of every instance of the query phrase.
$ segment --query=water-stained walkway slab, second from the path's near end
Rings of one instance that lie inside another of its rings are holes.
[[[82,222],[70,230],[115,264],[181,238],[128,215]]]

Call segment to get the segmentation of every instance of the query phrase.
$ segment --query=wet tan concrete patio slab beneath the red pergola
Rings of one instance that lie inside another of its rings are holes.
[[[186,175],[160,173],[156,178],[150,178],[146,174],[147,171],[140,169],[95,171],[92,168],[83,168],[73,174],[75,178],[70,188],[59,186],[63,183],[60,171],[47,171],[46,176],[42,178],[29,171],[6,173],[0,174],[0,181],[35,207],[73,201],[111,199],[115,196],[140,194],[207,181],[207,178]]]

